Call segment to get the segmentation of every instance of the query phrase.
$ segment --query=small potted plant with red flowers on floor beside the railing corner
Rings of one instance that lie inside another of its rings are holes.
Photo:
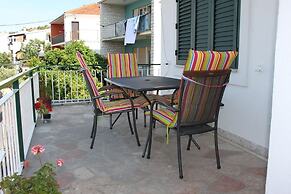
[[[51,119],[52,105],[50,99],[38,98],[34,106],[44,121]]]

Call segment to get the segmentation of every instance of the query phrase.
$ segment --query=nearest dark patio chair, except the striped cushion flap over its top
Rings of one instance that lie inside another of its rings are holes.
[[[143,157],[147,150],[147,158],[150,158],[155,119],[167,126],[167,142],[169,141],[168,129],[176,129],[179,177],[181,179],[183,178],[181,136],[190,137],[187,145],[187,150],[189,150],[191,141],[193,141],[192,135],[213,131],[217,169],[220,169],[217,139],[218,115],[230,72],[230,70],[186,71],[181,81],[180,92],[183,95],[179,97],[178,107],[154,101],[150,109],[150,129]],[[162,108],[154,110],[156,104]]]

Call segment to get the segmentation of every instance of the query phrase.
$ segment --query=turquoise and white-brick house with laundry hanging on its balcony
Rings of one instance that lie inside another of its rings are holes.
[[[152,61],[151,0],[99,0],[101,23],[101,54],[134,52],[138,64]],[[124,46],[126,20],[140,16],[135,44]]]

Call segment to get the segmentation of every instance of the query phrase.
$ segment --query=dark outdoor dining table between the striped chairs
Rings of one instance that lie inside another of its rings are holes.
[[[105,78],[105,81],[121,89],[140,92],[149,103],[151,102],[147,98],[147,92],[179,89],[180,87],[180,79],[163,76]]]

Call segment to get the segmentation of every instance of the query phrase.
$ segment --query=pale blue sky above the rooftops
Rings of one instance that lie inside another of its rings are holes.
[[[67,10],[96,2],[97,0],[1,0],[0,32],[12,32],[23,27],[49,24]],[[21,26],[10,25],[39,21],[45,22]]]

